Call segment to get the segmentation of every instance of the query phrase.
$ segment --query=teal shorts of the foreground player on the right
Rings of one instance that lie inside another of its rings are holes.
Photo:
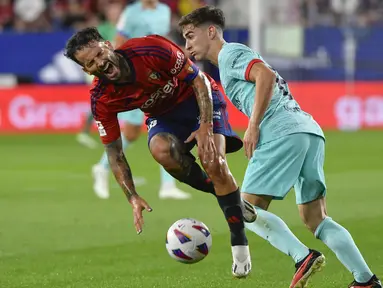
[[[259,146],[249,161],[241,191],[282,200],[294,187],[297,204],[326,195],[324,144],[320,136],[296,133]]]

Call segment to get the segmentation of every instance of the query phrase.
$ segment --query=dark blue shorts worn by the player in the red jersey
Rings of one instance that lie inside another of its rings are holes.
[[[226,111],[226,101],[219,91],[213,91],[213,131],[226,138],[226,153],[232,153],[242,148],[243,143],[231,129],[229,116]],[[158,133],[170,133],[184,142],[190,134],[199,127],[199,107],[197,99],[192,96],[178,104],[164,115],[146,119],[148,127],[148,143]],[[190,151],[196,143],[187,145]]]

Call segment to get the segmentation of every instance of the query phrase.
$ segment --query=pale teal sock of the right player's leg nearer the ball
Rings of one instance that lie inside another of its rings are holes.
[[[247,229],[269,241],[279,251],[290,255],[295,263],[309,255],[309,249],[291,232],[286,223],[277,215],[254,206],[257,220],[245,223]]]

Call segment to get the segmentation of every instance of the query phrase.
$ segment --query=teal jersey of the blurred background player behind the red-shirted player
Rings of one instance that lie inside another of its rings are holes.
[[[167,36],[170,31],[169,6],[158,3],[155,9],[143,9],[140,1],[128,5],[117,23],[117,33],[127,37],[144,37],[151,34]]]

